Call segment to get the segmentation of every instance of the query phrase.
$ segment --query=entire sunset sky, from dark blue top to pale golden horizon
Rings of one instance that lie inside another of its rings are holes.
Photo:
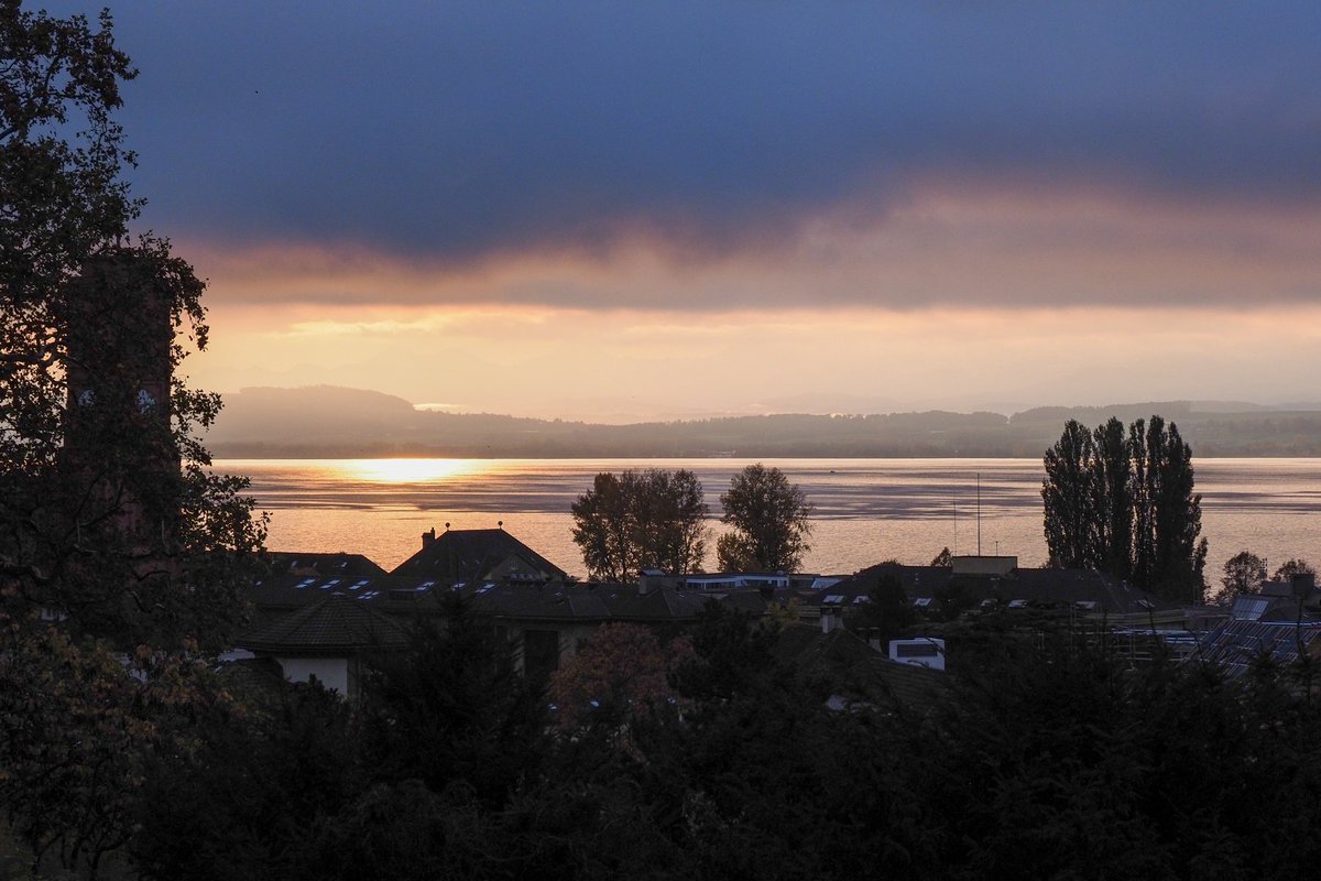
[[[203,388],[1321,400],[1314,0],[111,9],[143,225],[209,280]]]

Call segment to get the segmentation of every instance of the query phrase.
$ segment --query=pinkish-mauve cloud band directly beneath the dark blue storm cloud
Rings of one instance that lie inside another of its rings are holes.
[[[942,181],[868,226],[806,219],[778,250],[691,262],[651,240],[450,267],[310,246],[185,252],[217,304],[740,313],[995,306],[1246,308],[1321,302],[1321,207],[1205,210],[1135,194]],[[361,318],[351,318],[359,321]],[[379,318],[376,318],[379,320]],[[411,318],[410,318],[411,320]]]

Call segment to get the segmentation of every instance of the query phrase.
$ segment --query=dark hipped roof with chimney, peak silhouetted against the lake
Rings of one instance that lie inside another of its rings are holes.
[[[564,580],[568,573],[505,530],[445,530],[423,536],[423,548],[391,575],[429,576],[446,584],[480,581],[510,564],[510,577],[530,581]]]

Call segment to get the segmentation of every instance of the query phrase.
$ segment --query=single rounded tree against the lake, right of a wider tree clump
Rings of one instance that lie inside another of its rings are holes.
[[[725,572],[793,572],[811,548],[812,506],[778,468],[757,462],[738,472],[720,505],[720,522],[733,527],[716,543]]]

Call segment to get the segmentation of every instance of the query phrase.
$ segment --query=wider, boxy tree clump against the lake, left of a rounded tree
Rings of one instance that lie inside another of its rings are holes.
[[[572,511],[573,542],[593,579],[635,581],[646,568],[701,571],[707,503],[690,470],[597,474]]]

